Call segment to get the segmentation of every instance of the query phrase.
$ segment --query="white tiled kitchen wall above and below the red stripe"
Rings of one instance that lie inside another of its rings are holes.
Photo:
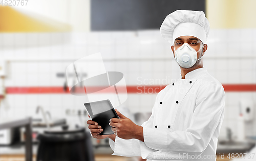
[[[138,79],[177,79],[180,69],[158,30],[91,33],[2,33],[0,57],[8,61],[5,85],[63,86],[65,73],[72,61],[101,52],[106,71],[124,74],[127,85]],[[222,84],[256,83],[256,29],[215,29],[210,31],[208,50],[203,57],[208,72]],[[114,60],[111,60],[114,59]],[[129,94],[124,105],[131,112],[150,112],[156,94]],[[240,98],[255,100],[255,92],[226,93],[226,110],[221,135],[230,127],[236,135]],[[83,109],[83,97],[69,94],[8,95],[0,106],[0,118],[36,116],[38,105],[53,117],[66,117],[66,109]],[[9,106],[5,107],[5,106]],[[256,118],[256,116],[255,116]],[[72,118],[71,118],[72,120]],[[77,121],[77,118],[73,118]],[[247,125],[247,135],[256,135],[256,119]],[[250,127],[251,126],[251,127]]]

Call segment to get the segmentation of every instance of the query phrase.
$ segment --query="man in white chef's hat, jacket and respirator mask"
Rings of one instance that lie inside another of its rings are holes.
[[[111,119],[114,134],[99,135],[89,120],[92,137],[109,137],[113,155],[147,160],[216,160],[224,117],[223,86],[203,67],[209,22],[202,11],[177,10],[164,19],[160,32],[170,44],[181,78],[157,97],[151,117],[141,126],[120,112]]]

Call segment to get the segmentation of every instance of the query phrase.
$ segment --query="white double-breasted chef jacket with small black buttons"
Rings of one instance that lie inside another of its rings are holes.
[[[151,117],[141,125],[144,142],[116,136],[110,139],[112,155],[216,160],[224,105],[224,88],[206,68],[191,71],[158,93]]]

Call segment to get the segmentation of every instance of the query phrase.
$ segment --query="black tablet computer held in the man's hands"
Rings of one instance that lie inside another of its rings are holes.
[[[119,117],[109,99],[88,102],[84,103],[83,105],[86,107],[92,121],[97,122],[98,125],[100,125],[103,129],[103,131],[99,133],[100,135],[114,134],[114,132],[111,130],[112,127],[109,125],[110,119],[119,119]]]

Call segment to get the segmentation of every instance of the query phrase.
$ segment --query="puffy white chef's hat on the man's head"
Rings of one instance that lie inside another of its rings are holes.
[[[194,36],[205,43],[209,29],[210,24],[203,11],[177,10],[165,17],[160,32],[173,45],[180,36]]]

